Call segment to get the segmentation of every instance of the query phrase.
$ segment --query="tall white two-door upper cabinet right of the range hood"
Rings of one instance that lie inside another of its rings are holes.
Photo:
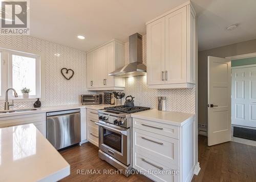
[[[146,25],[149,88],[192,88],[196,83],[196,14],[189,3]]]

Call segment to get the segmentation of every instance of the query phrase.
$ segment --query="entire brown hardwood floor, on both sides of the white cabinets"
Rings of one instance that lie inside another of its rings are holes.
[[[236,142],[207,146],[207,137],[198,137],[199,162],[201,171],[194,175],[193,182],[256,181],[256,147]],[[143,175],[106,174],[113,166],[98,158],[98,148],[91,143],[75,146],[63,151],[61,155],[71,165],[71,174],[61,181],[152,181]],[[84,174],[95,170],[94,174]],[[80,172],[80,174],[77,174]],[[80,170],[80,171],[79,171]],[[97,174],[97,171],[101,174]]]

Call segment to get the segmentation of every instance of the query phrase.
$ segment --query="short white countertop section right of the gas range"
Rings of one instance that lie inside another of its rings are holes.
[[[172,111],[158,111],[157,109],[151,109],[138,113],[133,113],[132,117],[159,122],[168,122],[169,124],[181,126],[185,124],[185,122],[189,118],[194,117],[194,114]]]

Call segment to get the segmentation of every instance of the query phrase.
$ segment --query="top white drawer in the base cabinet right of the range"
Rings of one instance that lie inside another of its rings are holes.
[[[156,121],[133,118],[133,127],[144,131],[179,139],[179,127]]]

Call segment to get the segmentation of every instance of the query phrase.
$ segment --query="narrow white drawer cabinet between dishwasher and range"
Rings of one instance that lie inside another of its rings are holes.
[[[87,140],[99,147],[98,110],[87,109]]]

